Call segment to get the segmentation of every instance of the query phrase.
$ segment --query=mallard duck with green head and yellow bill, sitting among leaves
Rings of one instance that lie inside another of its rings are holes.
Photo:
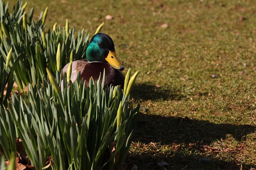
[[[64,66],[63,74],[68,70],[68,64]],[[92,37],[87,49],[86,59],[72,62],[72,73],[70,80],[74,82],[77,74],[81,72],[81,79],[86,80],[86,86],[92,77],[94,81],[98,80],[100,73],[103,75],[105,69],[105,88],[110,84],[124,87],[124,66],[116,58],[114,42],[110,36],[104,33],[97,33]],[[102,80],[102,79],[101,79]]]

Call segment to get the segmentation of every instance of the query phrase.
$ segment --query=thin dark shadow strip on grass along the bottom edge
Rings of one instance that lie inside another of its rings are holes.
[[[205,160],[202,161],[202,160]],[[208,160],[208,161],[206,161]],[[237,164],[236,162],[226,162],[218,159],[206,159],[200,158],[196,155],[186,156],[172,156],[166,157],[164,155],[160,157],[145,158],[145,155],[130,155],[127,159],[128,162],[137,164],[139,170],[254,170],[256,165],[254,164]],[[157,163],[168,162],[168,165],[159,166]],[[132,168],[132,166],[130,166]],[[251,169],[252,168],[252,169]]]

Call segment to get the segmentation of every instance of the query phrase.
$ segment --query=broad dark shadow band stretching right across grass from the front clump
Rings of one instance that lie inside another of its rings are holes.
[[[188,117],[163,117],[142,113],[138,115],[137,128],[136,141],[161,142],[166,145],[198,141],[210,145],[213,141],[225,139],[228,134],[237,141],[242,141],[246,135],[256,130],[256,126],[251,125],[215,124]]]

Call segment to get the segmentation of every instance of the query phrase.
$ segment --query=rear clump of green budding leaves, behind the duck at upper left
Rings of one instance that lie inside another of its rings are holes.
[[[28,82],[36,82],[38,79],[42,81],[46,67],[52,72],[60,71],[60,68],[69,63],[71,51],[74,53],[74,60],[85,57],[89,35],[84,29],[75,35],[74,28],[69,28],[68,20],[63,29],[54,24],[52,30],[45,31],[48,8],[36,22],[33,20],[33,8],[27,16],[26,3],[22,6],[20,0],[17,0],[12,13],[8,12],[8,2],[5,5],[0,1],[0,8],[0,55],[6,61],[7,54],[13,49],[10,65],[21,55],[20,63],[14,70],[19,89],[24,89]]]

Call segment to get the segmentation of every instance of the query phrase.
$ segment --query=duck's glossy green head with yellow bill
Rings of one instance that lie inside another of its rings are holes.
[[[113,40],[104,33],[97,33],[92,37],[86,49],[86,58],[88,62],[108,62],[113,68],[124,70],[124,66],[116,58]]]

